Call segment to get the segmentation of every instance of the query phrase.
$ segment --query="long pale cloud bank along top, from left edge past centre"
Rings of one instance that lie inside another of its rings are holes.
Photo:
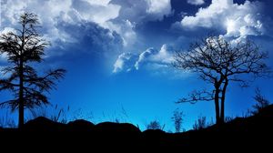
[[[171,14],[171,5],[170,0],[6,0],[1,1],[1,27],[14,27],[25,11],[40,17],[43,34],[53,45],[76,40],[62,30],[60,23],[78,26],[90,22],[118,34],[123,46],[130,46],[136,41],[136,22],[161,20]]]

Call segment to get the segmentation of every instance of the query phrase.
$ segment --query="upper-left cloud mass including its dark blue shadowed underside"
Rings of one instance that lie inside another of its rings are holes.
[[[116,18],[120,8],[108,3],[106,0],[63,0],[61,3],[58,0],[1,1],[0,32],[13,30],[10,27],[20,28],[17,23],[19,15],[31,12],[38,15],[43,26],[39,32],[52,44],[52,49],[46,50],[47,55],[63,55],[65,52],[60,50],[66,50],[66,46],[70,47],[67,50],[72,50],[71,44],[88,52],[111,50],[109,55],[113,55],[123,44],[123,39],[116,32],[126,34],[128,29],[115,31],[106,27],[107,22]]]

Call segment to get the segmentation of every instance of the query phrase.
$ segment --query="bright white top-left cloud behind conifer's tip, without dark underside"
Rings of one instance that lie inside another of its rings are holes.
[[[75,43],[76,40],[69,33],[60,29],[60,23],[78,26],[93,22],[114,31],[107,26],[107,22],[118,16],[120,6],[109,2],[110,0],[6,0],[1,2],[1,27],[14,27],[19,15],[25,11],[32,12],[39,16],[43,34],[53,45],[56,41]]]

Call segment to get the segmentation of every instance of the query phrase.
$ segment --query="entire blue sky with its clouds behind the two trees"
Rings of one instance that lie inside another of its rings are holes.
[[[171,67],[175,51],[186,51],[190,42],[211,32],[234,41],[249,37],[269,52],[267,62],[273,66],[272,6],[269,0],[1,0],[0,31],[13,30],[25,11],[39,15],[40,33],[51,46],[37,68],[67,70],[49,95],[52,104],[92,112],[96,123],[117,117],[144,128],[157,119],[166,130],[174,130],[170,117],[179,108],[189,129],[199,116],[214,117],[213,102],[175,101],[211,85]],[[5,66],[5,56],[0,62]],[[255,87],[273,101],[272,85],[269,78],[243,89],[231,84],[227,116],[241,115],[254,104]]]

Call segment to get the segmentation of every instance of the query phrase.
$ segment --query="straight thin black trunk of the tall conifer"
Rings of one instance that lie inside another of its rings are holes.
[[[20,67],[19,67],[19,75],[20,75],[20,87],[19,87],[19,121],[18,128],[23,128],[24,126],[24,72],[23,72],[23,60],[20,59]]]

